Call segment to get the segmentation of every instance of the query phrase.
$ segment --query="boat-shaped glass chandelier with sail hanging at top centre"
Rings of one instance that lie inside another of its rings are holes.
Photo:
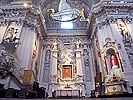
[[[71,22],[76,21],[83,17],[84,9],[79,11],[76,8],[71,8],[67,3],[66,0],[60,0],[59,3],[59,11],[55,13],[54,9],[48,9],[47,12],[49,17],[55,21],[60,22]]]

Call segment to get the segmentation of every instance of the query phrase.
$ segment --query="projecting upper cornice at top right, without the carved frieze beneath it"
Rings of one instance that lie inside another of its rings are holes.
[[[125,4],[121,4],[120,2],[115,2],[112,4],[108,4],[108,2],[103,1],[99,4],[93,6],[92,13],[95,17],[102,16],[103,14],[108,15],[133,15],[133,2],[127,2]]]

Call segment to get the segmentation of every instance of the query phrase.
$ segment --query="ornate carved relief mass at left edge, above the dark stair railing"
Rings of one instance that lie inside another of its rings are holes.
[[[12,73],[17,79],[22,80],[24,74],[24,67],[21,67],[17,59],[8,54],[4,46],[0,45],[0,73],[2,78],[6,77],[8,73]]]

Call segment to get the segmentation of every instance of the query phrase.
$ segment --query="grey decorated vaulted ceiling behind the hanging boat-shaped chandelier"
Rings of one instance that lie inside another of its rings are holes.
[[[50,8],[53,8],[55,12],[57,12],[60,2],[60,0],[0,0],[0,4],[9,4],[14,1],[31,1],[34,5],[40,6],[44,16],[46,14],[46,10]],[[98,3],[99,1],[100,0],[66,0],[67,4],[69,4],[72,8],[76,8],[78,10],[84,9],[85,17],[89,16],[92,5]]]

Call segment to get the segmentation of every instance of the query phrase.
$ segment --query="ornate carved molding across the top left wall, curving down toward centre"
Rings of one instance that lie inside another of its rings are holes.
[[[34,5],[24,7],[23,4],[12,4],[2,6],[0,25],[8,25],[15,22],[17,25],[24,25],[31,29],[39,28],[40,33],[46,33],[44,19],[39,8]]]

